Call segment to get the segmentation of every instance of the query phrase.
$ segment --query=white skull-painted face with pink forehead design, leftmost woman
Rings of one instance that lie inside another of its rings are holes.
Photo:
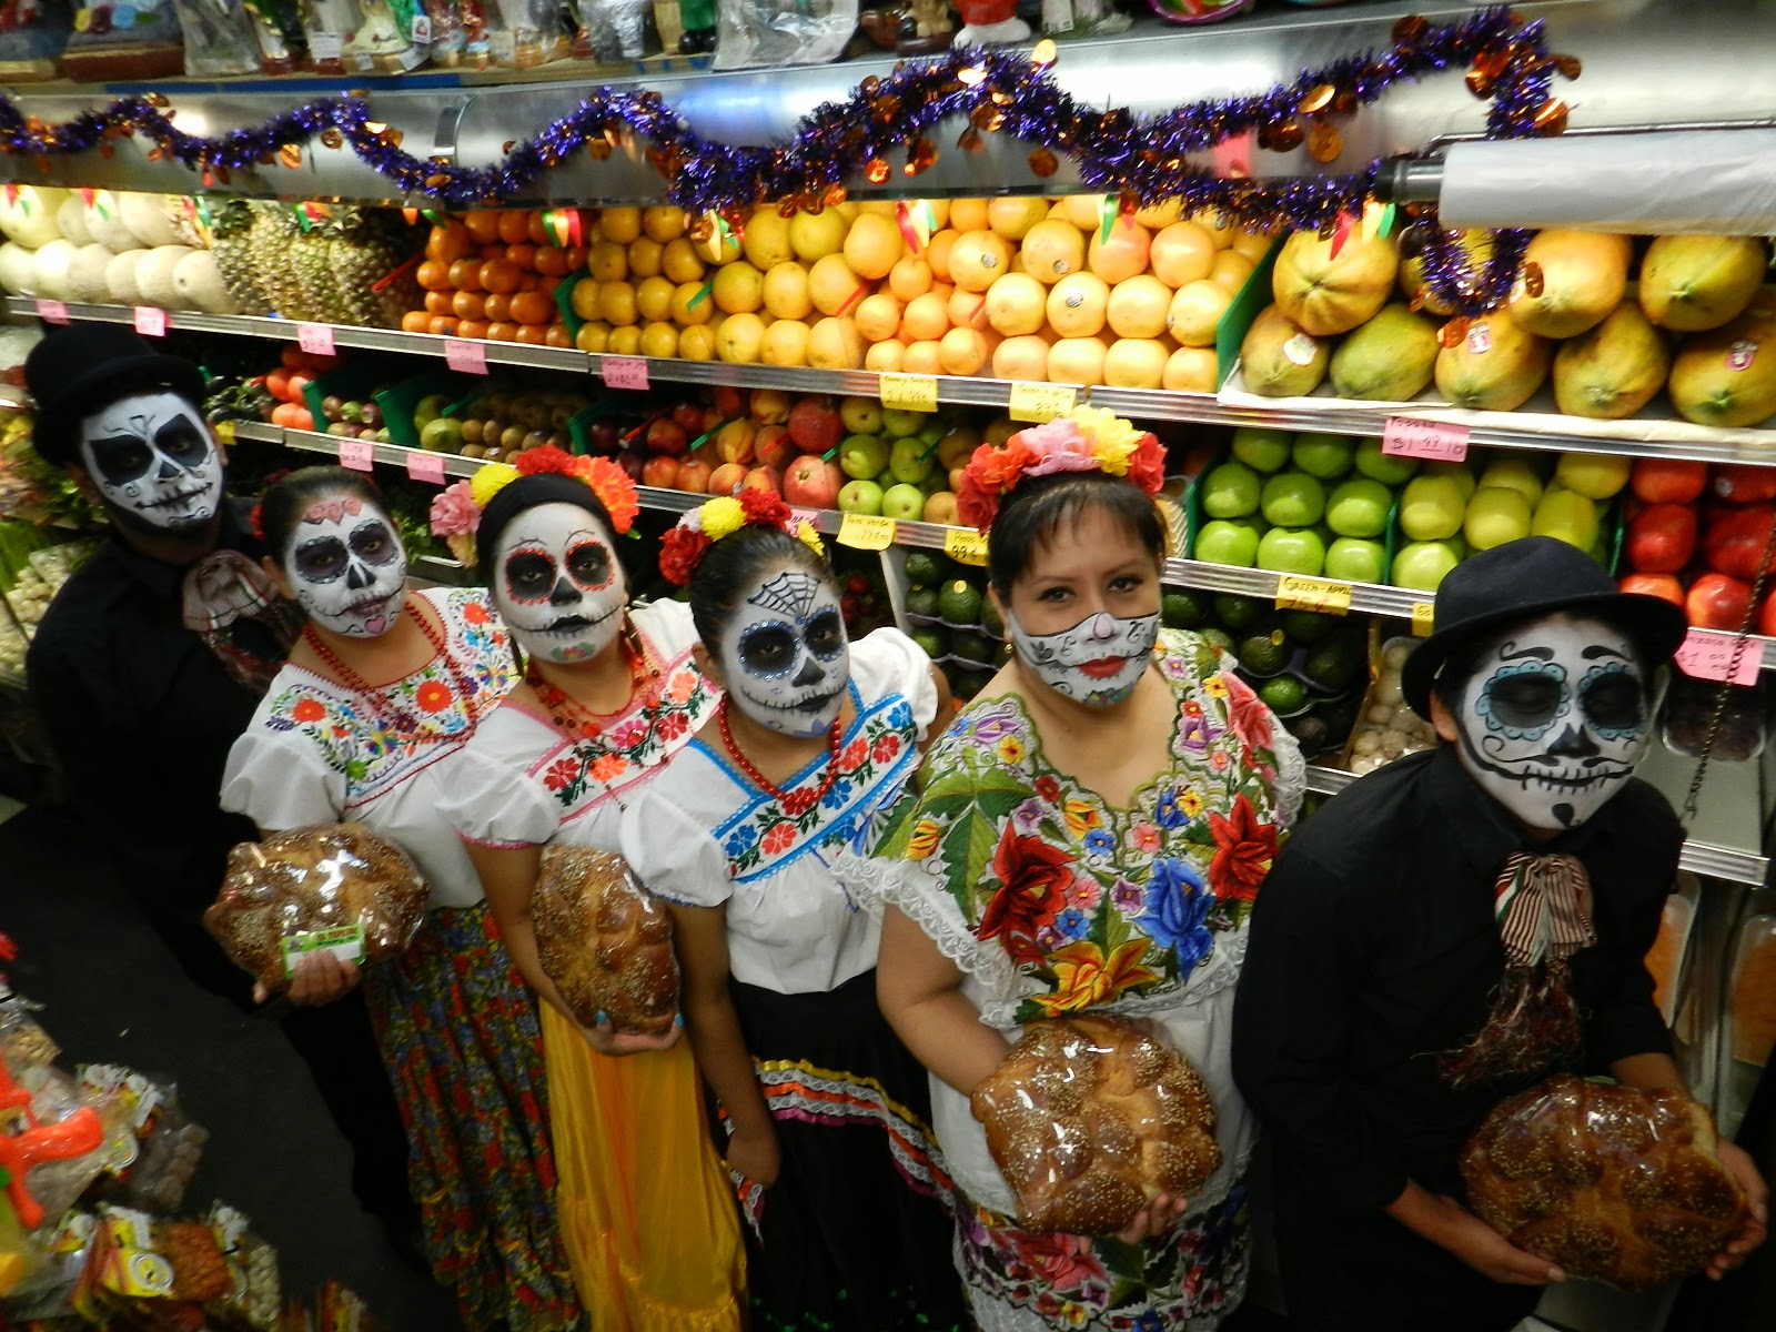
[[[321,629],[377,638],[401,614],[407,551],[380,508],[357,496],[330,496],[291,533],[284,577]]]

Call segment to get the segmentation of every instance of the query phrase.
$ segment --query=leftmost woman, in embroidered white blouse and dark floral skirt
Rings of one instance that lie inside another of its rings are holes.
[[[472,1332],[583,1327],[554,1224],[536,1009],[439,813],[515,682],[506,630],[481,590],[408,591],[394,520],[355,472],[293,472],[256,519],[266,574],[309,625],[229,755],[222,806],[265,833],[362,822],[419,865],[424,924],[362,982],[433,1275]],[[327,1003],[357,982],[320,954],[289,998]]]

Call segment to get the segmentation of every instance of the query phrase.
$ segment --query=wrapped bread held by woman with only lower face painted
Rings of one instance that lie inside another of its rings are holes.
[[[1037,1021],[971,1099],[1030,1231],[1115,1234],[1220,1165],[1215,1103],[1183,1055],[1115,1016]]]

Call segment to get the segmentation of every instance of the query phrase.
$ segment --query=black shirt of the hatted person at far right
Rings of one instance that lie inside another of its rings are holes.
[[[1572,957],[1588,1071],[1669,1051],[1643,964],[1684,831],[1630,780],[1549,844],[1515,824],[1442,746],[1352,783],[1277,856],[1252,913],[1233,1066],[1293,1199],[1332,1215],[1392,1202],[1415,1179],[1462,1197],[1467,1135],[1524,1083],[1451,1090],[1430,1055],[1485,1023],[1504,973],[1494,883],[1517,849],[1590,874],[1597,947]]]

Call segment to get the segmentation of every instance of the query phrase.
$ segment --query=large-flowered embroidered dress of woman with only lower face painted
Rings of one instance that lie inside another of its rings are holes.
[[[931,1080],[938,1142],[964,1195],[955,1256],[982,1332],[1206,1332],[1245,1291],[1256,1124],[1233,1083],[1233,986],[1305,769],[1202,639],[1163,630],[1156,664],[1177,698],[1172,765],[1131,808],[1051,769],[1016,694],[980,698],[925,753],[858,870],[963,968],[963,993],[1007,1039],[1087,1009],[1151,1018],[1215,1098],[1222,1167],[1177,1229],[1087,1249],[1016,1225],[968,1098]]]

